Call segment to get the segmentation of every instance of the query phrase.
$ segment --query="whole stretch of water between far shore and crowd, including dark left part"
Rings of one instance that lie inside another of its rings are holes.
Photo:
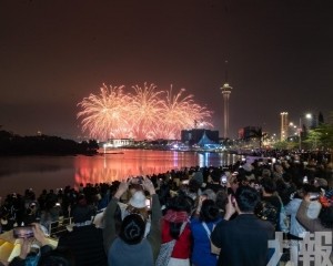
[[[233,164],[238,155],[149,150],[114,150],[94,156],[22,156],[0,158],[0,197],[33,188],[57,190],[80,183],[101,183],[129,176],[165,173],[189,166]]]

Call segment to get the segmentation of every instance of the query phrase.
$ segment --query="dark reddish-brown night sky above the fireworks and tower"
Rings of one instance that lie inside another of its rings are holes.
[[[1,0],[0,124],[21,135],[82,136],[77,104],[102,83],[179,91],[214,112],[222,135],[279,133],[333,111],[331,0]]]

